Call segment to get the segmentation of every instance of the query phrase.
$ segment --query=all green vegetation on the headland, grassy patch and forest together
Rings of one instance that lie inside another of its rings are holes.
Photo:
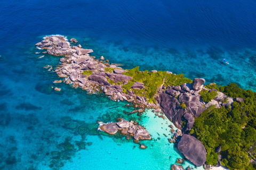
[[[106,72],[113,72],[114,69],[107,68]],[[84,72],[91,74],[91,72]],[[139,67],[126,70],[125,75],[132,77],[127,84],[123,82],[111,84],[122,85],[123,92],[133,90],[136,95],[146,97],[149,103],[156,103],[154,96],[159,87],[181,86],[183,83],[192,83],[191,79],[185,78],[184,74],[168,74],[166,71],[149,72],[140,71]],[[132,89],[134,82],[144,83],[143,89]],[[215,105],[208,107],[199,117],[195,118],[195,124],[191,134],[200,140],[206,148],[206,164],[216,165],[218,155],[221,155],[221,163],[229,169],[256,169],[249,161],[256,160],[256,93],[252,90],[239,88],[235,83],[228,86],[209,84],[207,89],[200,92],[202,100],[210,102],[218,95],[217,91],[223,92],[228,97],[244,98],[244,102],[234,101],[229,107],[215,108]],[[222,101],[222,103],[227,103]],[[182,108],[186,108],[184,103]],[[215,148],[221,146],[221,151],[215,153]]]

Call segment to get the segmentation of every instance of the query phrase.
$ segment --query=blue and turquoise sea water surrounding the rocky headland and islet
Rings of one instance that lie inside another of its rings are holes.
[[[44,66],[57,66],[61,57],[38,59],[43,54],[35,44],[44,36],[76,38],[93,56],[124,69],[256,91],[256,1],[0,2],[0,169],[170,169],[183,158],[167,140],[171,122],[151,110],[127,115],[132,108],[125,102],[53,84],[58,76]],[[153,138],[142,142],[147,149],[97,131],[97,121],[117,117],[147,128]]]

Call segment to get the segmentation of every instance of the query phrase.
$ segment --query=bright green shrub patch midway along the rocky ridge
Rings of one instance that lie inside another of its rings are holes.
[[[157,73],[153,73],[149,72],[148,70],[141,72],[139,71],[139,67],[127,70],[127,72],[123,74],[133,78],[129,81],[129,83],[123,85],[123,88],[126,90],[132,90],[131,86],[134,82],[139,81],[144,83],[145,88],[141,90],[134,89],[134,93],[139,96],[145,96],[147,99],[149,99],[149,103],[156,103],[154,96],[157,93],[158,87],[161,87],[162,84],[167,87],[177,85],[180,86],[183,83],[193,82],[188,78],[184,78],[184,74],[167,74],[166,71],[158,71]]]

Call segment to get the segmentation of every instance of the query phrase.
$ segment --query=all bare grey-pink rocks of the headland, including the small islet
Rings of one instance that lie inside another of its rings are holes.
[[[132,77],[123,74],[126,72],[124,69],[118,65],[109,64],[109,61],[105,60],[103,56],[95,60],[95,57],[89,55],[93,50],[84,49],[79,44],[75,46],[74,44],[78,41],[74,38],[70,39],[70,43],[61,36],[50,36],[44,37],[44,40],[37,43],[36,46],[46,49],[50,55],[65,56],[60,58],[60,65],[55,68],[55,72],[59,78],[64,79],[63,82],[71,84],[74,88],[79,87],[90,93],[102,91],[110,99],[133,102],[137,106],[135,108],[140,109],[134,109],[132,113],[142,114],[146,107],[156,109],[157,113],[163,111],[165,116],[179,129],[175,132],[173,139],[169,139],[169,141],[180,140],[178,150],[196,166],[204,164],[206,152],[199,140],[186,134],[193,128],[194,117],[200,116],[211,105],[228,107],[234,100],[243,101],[242,98],[233,99],[217,91],[218,95],[209,103],[205,103],[199,92],[209,89],[204,87],[204,79],[195,78],[192,84],[184,83],[181,86],[158,87],[158,93],[155,95],[157,104],[148,103],[146,97],[135,95],[133,92],[134,89],[145,88],[142,82],[134,82],[131,86],[133,90],[124,92],[122,86],[132,79]],[[171,72],[167,73],[172,74]],[[56,90],[60,91],[61,89],[57,88]],[[224,99],[225,102],[223,102]],[[184,105],[186,108],[183,107]],[[186,122],[185,126],[183,126],[183,122]],[[109,134],[115,134],[119,131],[128,138],[133,137],[134,140],[151,139],[147,130],[132,121],[122,120],[117,123],[101,124],[99,129]],[[141,148],[146,148],[146,146],[141,146]],[[176,165],[173,166],[173,169],[181,169]]]

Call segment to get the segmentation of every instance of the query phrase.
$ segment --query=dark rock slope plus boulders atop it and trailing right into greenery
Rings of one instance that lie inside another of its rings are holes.
[[[233,103],[233,99],[218,91],[218,95],[209,103],[202,100],[199,92],[206,89],[203,84],[205,80],[195,78],[192,84],[184,83],[181,86],[167,87],[166,90],[156,97],[156,100],[162,108],[164,114],[174,125],[182,129],[182,123],[186,122],[183,132],[189,132],[194,125],[194,117],[199,117],[205,109],[211,105],[228,106]],[[210,90],[209,90],[210,91]],[[227,103],[222,103],[223,99],[227,98]],[[239,100],[239,99],[238,99]],[[181,107],[181,104],[186,105],[186,109]]]

